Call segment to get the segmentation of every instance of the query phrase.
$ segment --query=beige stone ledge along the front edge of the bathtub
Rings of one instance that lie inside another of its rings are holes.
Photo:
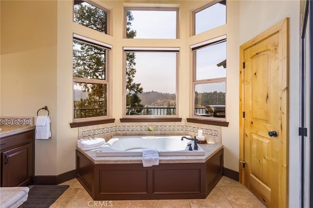
[[[221,144],[199,145],[205,151],[204,155],[194,156],[160,156],[159,163],[205,163],[216,152],[223,148]],[[142,156],[96,156],[98,149],[83,151],[77,148],[82,154],[86,155],[94,164],[142,164]]]

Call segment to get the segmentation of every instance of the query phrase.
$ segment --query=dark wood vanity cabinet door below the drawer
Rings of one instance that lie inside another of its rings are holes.
[[[25,186],[31,179],[31,145],[2,152],[2,187]]]

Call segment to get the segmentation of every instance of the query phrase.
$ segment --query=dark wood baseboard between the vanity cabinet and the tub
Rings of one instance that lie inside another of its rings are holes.
[[[76,170],[70,170],[60,175],[35,175],[34,185],[58,185],[76,178]]]

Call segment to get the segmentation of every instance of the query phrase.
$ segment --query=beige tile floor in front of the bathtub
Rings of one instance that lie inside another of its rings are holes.
[[[50,208],[265,208],[246,187],[227,177],[206,199],[93,201],[76,179],[61,185],[69,187]]]

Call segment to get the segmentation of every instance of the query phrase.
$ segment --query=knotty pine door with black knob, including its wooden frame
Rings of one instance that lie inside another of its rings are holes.
[[[240,52],[240,179],[266,206],[287,207],[288,19]]]

